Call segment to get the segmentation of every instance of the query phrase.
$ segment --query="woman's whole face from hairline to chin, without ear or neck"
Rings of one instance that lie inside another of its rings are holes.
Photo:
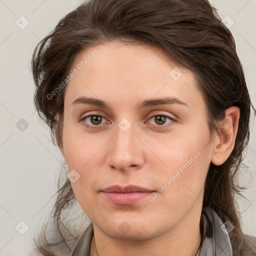
[[[201,212],[212,154],[206,107],[193,73],[164,59],[112,41],[70,69],[63,154],[78,203],[111,237],[152,238]]]

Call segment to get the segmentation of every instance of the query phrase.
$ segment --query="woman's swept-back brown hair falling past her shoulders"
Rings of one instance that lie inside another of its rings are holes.
[[[237,176],[242,171],[242,153],[249,139],[250,105],[254,113],[256,110],[250,101],[233,36],[207,0],[90,0],[65,15],[36,45],[31,62],[36,85],[34,103],[40,118],[51,129],[53,143],[56,139],[58,146],[62,145],[66,86],[52,98],[47,95],[68,75],[77,54],[111,40],[158,47],[180,66],[191,70],[206,103],[211,136],[213,131],[218,132],[216,121],[224,118],[226,108],[240,108],[231,154],[219,166],[210,163],[203,207],[210,206],[223,222],[228,220],[234,226],[229,233],[234,255],[255,252],[242,233],[235,196],[243,196],[241,190],[245,188],[239,186]],[[59,131],[56,138],[55,129]],[[50,247],[62,242],[63,247],[71,250],[66,232],[74,241],[71,246],[79,238],[79,233],[71,233],[65,227],[66,212],[76,199],[69,179],[65,175],[64,178],[61,182],[59,176],[51,216],[59,242],[48,242],[43,230],[44,241],[36,242],[43,255],[56,255]]]

